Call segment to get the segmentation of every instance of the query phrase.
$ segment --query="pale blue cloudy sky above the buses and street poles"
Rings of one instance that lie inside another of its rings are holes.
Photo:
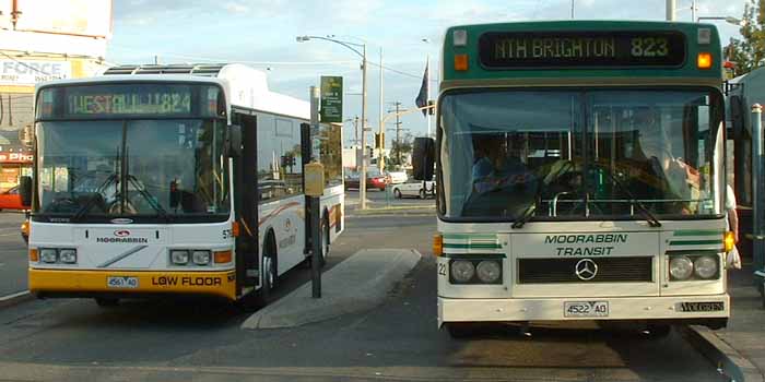
[[[697,15],[741,17],[746,0],[697,0]],[[678,20],[691,21],[691,0],[676,0]],[[666,0],[574,0],[576,19],[663,20]],[[391,103],[414,106],[426,57],[437,77],[439,41],[455,24],[522,20],[568,20],[570,0],[115,0],[114,36],[107,60],[114,63],[243,62],[267,70],[272,91],[307,99],[320,75],[342,75],[344,117],[361,114],[360,59],[331,43],[298,44],[297,35],[334,35],[367,43],[367,59],[401,73],[384,72],[384,112]],[[716,22],[723,41],[738,27]],[[423,39],[428,41],[423,41]],[[407,75],[408,74],[408,75]],[[367,119],[378,127],[377,67],[369,65]],[[432,83],[432,95],[436,83]],[[422,115],[404,116],[403,128],[425,132]],[[387,129],[393,128],[388,124]],[[388,141],[393,136],[388,130]],[[353,138],[346,124],[346,143]],[[388,145],[389,147],[389,145]]]

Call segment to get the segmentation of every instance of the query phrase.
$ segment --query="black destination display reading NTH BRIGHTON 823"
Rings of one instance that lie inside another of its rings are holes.
[[[479,39],[487,69],[678,67],[685,51],[676,32],[489,32]]]

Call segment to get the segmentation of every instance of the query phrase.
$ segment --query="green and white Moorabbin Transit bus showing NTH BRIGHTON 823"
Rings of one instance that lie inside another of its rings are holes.
[[[437,178],[438,324],[725,326],[720,60],[707,24],[449,28],[413,157]]]

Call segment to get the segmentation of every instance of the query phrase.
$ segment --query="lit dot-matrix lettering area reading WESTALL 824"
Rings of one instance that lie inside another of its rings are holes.
[[[191,92],[160,89],[136,93],[67,94],[68,115],[188,115]]]

